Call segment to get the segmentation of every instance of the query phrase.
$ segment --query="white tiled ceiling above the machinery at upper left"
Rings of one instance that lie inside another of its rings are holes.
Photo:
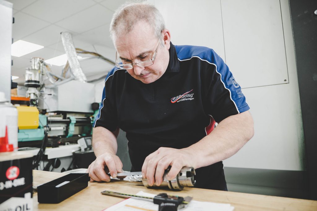
[[[116,8],[126,0],[7,0],[13,3],[13,41],[25,40],[44,48],[14,57],[11,75],[24,83],[25,68],[32,57],[50,59],[64,54],[60,33],[73,34],[75,47],[97,52],[114,60],[115,50],[109,38],[109,24]],[[85,57],[87,55],[84,55]],[[112,65],[100,59],[81,61],[88,80],[105,75]],[[62,67],[52,66],[60,74]]]

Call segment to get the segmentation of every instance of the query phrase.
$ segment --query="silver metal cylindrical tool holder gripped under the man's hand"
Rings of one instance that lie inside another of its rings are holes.
[[[163,182],[159,187],[168,186],[171,190],[182,190],[184,187],[193,187],[196,183],[194,176],[196,175],[195,169],[193,167],[183,167],[178,175],[172,179],[168,180],[167,174],[170,168],[166,169],[163,175]],[[156,187],[154,184],[153,186],[149,186],[147,179],[142,178],[142,183],[145,187]]]

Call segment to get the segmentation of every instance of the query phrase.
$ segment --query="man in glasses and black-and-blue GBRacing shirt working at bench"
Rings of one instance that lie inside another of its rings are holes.
[[[222,160],[253,136],[249,106],[227,65],[212,49],[174,46],[159,11],[145,3],[118,9],[110,33],[116,67],[94,123],[91,181],[110,182],[105,170],[112,177],[122,171],[115,155],[121,128],[131,171],[142,171],[150,186],[162,183],[168,166],[170,180],[188,166],[196,169],[195,187],[227,190]]]

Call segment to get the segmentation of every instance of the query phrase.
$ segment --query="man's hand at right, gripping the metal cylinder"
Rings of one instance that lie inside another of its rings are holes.
[[[171,170],[167,174],[167,179],[172,180],[184,166],[195,168],[196,158],[197,155],[186,148],[160,147],[145,158],[142,177],[147,179],[150,186],[153,186],[154,183],[159,186],[162,184],[164,172],[169,166],[171,166]]]

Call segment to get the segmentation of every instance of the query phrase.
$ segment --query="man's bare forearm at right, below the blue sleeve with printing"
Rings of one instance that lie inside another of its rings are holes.
[[[194,154],[195,168],[200,168],[231,157],[253,134],[253,119],[246,111],[224,119],[210,134],[184,150]]]

